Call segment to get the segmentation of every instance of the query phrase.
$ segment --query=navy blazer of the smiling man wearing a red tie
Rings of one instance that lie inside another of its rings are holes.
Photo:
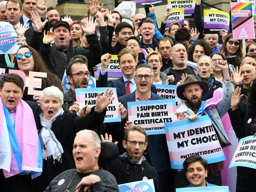
[[[117,96],[121,97],[123,95],[126,95],[126,88],[125,88],[125,82],[123,80],[123,77],[115,79],[115,80],[109,80],[108,81],[108,72],[104,75],[101,75],[101,72],[99,72],[99,79],[98,79],[98,87],[101,88],[116,88]],[[155,85],[151,85],[151,91],[153,93],[157,93],[157,88]]]

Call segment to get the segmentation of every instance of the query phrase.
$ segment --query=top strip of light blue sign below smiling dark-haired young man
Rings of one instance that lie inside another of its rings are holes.
[[[229,192],[228,186],[199,186],[176,188],[176,192]]]

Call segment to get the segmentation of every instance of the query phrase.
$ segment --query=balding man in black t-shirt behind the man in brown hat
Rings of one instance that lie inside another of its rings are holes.
[[[176,85],[180,80],[182,74],[187,75],[196,75],[197,72],[194,71],[191,67],[187,67],[187,51],[184,45],[178,43],[171,48],[169,53],[170,59],[172,60],[173,67],[168,68],[164,71],[166,75],[174,76],[174,82],[169,84]]]

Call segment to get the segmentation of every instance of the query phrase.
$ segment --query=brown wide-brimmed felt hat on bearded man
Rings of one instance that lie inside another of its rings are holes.
[[[184,95],[183,95],[184,89],[186,86],[188,86],[190,84],[194,84],[194,83],[197,83],[200,85],[201,89],[203,89],[203,93],[202,93],[203,95],[209,91],[209,86],[208,86],[207,82],[198,81],[194,76],[189,75],[185,79],[183,85],[180,85],[177,87],[177,96],[179,97],[179,99],[187,101],[186,97],[184,97]]]

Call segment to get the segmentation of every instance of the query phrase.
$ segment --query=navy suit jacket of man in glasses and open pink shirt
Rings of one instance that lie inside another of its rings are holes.
[[[150,99],[160,100],[164,98],[160,97],[159,95],[151,91]],[[135,91],[133,93],[119,97],[118,100],[127,109],[127,102],[135,101]],[[128,114],[126,118],[128,119]],[[153,167],[155,167],[157,172],[165,171],[168,169],[168,167],[170,167],[170,166],[167,166],[167,163],[170,164],[170,157],[168,153],[166,153],[168,151],[168,147],[167,147],[165,134],[149,135],[148,151],[149,151],[149,157],[152,162],[152,165]]]

